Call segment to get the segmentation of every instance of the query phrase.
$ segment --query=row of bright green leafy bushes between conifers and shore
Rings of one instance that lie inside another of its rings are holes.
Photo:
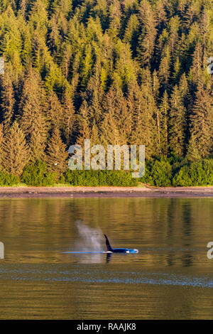
[[[213,184],[213,159],[190,163],[175,156],[146,161],[143,178],[132,178],[130,171],[70,171],[57,180],[54,173],[48,173],[45,162],[36,161],[27,165],[20,178],[0,171],[0,186],[18,183],[34,186],[48,186],[65,183],[71,186],[124,186],[133,187],[146,183],[157,187],[207,186]]]

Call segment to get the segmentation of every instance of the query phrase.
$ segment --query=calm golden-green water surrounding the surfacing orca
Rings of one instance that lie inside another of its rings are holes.
[[[213,198],[1,199],[0,318],[213,319],[212,217]],[[77,253],[102,233],[139,253]]]

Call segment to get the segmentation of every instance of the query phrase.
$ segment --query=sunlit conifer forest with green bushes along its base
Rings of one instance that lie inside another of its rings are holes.
[[[0,57],[0,185],[213,185],[212,0],[1,0]],[[145,176],[70,171],[84,139]]]

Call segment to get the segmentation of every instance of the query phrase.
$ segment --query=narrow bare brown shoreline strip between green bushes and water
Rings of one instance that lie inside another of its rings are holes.
[[[0,198],[213,198],[213,186],[0,187]]]

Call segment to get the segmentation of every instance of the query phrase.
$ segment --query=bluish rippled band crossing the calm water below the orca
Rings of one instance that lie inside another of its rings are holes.
[[[168,274],[161,272],[143,273],[140,271],[107,271],[107,270],[82,270],[45,267],[28,267],[26,264],[19,268],[1,266],[0,279],[27,280],[27,281],[70,281],[82,283],[104,284],[156,284],[172,286],[192,286],[213,288],[213,276],[203,275],[199,277],[182,274]]]

